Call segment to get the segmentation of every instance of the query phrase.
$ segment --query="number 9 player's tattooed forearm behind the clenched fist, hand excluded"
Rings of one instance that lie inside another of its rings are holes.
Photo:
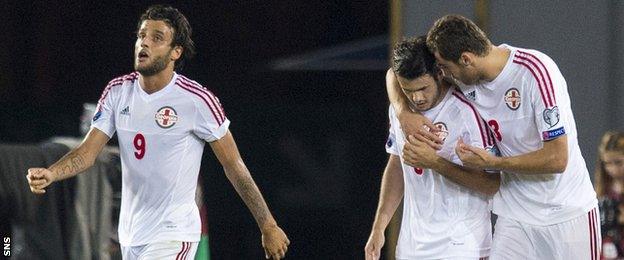
[[[84,149],[78,147],[48,167],[48,170],[53,172],[55,180],[59,181],[76,176],[78,173],[91,167],[94,162],[95,155],[90,155]]]

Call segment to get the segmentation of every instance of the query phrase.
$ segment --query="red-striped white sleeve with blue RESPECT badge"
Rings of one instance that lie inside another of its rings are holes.
[[[532,80],[525,82],[528,87],[531,105],[534,109],[535,124],[542,141],[549,141],[565,135],[566,122],[560,116],[561,107],[557,97],[563,97],[567,84],[557,65],[546,55],[519,52],[518,61],[529,70]]]

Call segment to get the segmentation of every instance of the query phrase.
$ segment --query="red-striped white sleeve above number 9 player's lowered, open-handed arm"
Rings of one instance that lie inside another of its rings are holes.
[[[206,93],[205,98],[195,99],[195,124],[193,133],[207,142],[221,139],[230,126],[230,120],[225,116],[219,99]]]

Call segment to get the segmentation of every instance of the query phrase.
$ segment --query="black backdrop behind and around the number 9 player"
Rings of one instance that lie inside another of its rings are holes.
[[[78,136],[82,104],[132,71],[145,1],[11,1],[0,6],[0,142]],[[384,71],[271,71],[277,58],[388,32],[387,1],[170,3],[198,56],[182,73],[221,100],[290,259],[353,259],[363,248],[387,155]],[[214,259],[260,259],[260,232],[206,148]]]

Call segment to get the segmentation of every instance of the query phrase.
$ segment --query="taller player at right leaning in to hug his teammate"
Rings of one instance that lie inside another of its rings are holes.
[[[458,147],[464,165],[503,171],[493,199],[498,220],[490,259],[598,259],[596,193],[557,65],[536,50],[494,46],[472,21],[457,15],[436,21],[427,45],[487,121],[503,156]],[[399,104],[400,90],[388,91]],[[410,111],[399,110],[402,118],[410,117]],[[413,121],[401,124],[418,128]]]

